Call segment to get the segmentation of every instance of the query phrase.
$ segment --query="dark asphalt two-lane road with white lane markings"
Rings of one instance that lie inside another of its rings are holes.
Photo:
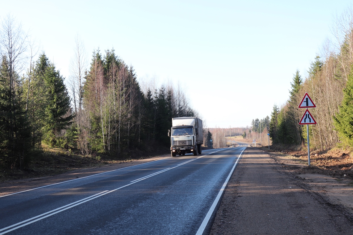
[[[208,233],[247,144],[0,197],[1,234]]]

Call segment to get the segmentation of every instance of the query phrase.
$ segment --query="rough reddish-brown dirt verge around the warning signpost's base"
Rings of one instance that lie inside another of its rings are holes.
[[[336,148],[314,152],[310,155],[310,166],[307,151],[265,151],[281,164],[284,171],[298,177],[312,191],[322,194],[329,203],[353,213],[353,153],[349,150]]]

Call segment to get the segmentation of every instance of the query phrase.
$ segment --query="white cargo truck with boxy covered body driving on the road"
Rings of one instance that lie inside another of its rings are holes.
[[[193,153],[201,154],[203,144],[202,120],[197,117],[172,118],[172,128],[168,130],[172,157]]]

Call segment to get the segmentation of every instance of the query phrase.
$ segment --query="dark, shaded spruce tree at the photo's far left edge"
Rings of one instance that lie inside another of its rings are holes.
[[[30,151],[30,133],[25,116],[23,89],[18,74],[10,79],[9,62],[0,64],[0,168],[23,168]],[[2,167],[1,167],[2,165]]]

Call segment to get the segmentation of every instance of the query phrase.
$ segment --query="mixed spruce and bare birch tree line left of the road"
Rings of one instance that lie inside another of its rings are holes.
[[[167,149],[171,119],[198,116],[180,86],[141,88],[133,66],[127,66],[114,49],[94,50],[86,69],[84,45],[77,37],[66,87],[55,64],[34,45],[16,19],[2,19],[2,169],[25,167],[43,144],[77,149],[85,156]]]

